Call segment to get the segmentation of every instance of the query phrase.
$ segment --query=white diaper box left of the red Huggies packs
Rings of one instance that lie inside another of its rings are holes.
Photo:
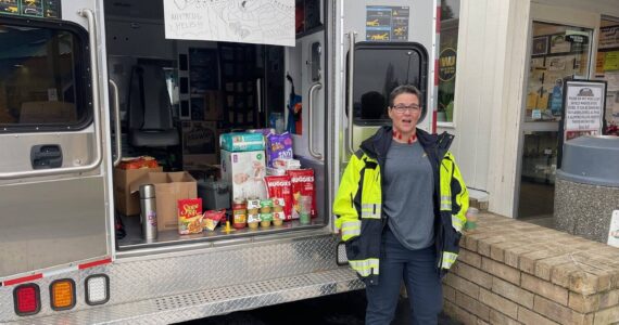
[[[222,180],[232,184],[232,199],[266,198],[265,172],[263,151],[222,151]]]

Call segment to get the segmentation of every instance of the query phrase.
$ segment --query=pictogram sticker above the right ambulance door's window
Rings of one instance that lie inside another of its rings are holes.
[[[408,40],[408,6],[367,5],[365,39],[368,41]]]

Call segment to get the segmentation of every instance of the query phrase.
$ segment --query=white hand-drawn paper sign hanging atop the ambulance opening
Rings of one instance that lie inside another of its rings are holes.
[[[164,0],[165,38],[294,47],[294,0]]]

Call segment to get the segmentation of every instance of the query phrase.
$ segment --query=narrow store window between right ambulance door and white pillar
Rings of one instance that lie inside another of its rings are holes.
[[[439,48],[439,122],[454,121],[456,58],[458,50],[459,0],[441,0],[441,37]]]

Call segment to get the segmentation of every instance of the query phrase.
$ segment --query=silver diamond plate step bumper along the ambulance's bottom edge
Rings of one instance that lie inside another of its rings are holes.
[[[79,312],[28,324],[169,324],[363,288],[349,268],[226,286]],[[13,324],[13,323],[9,323]],[[17,323],[15,323],[17,324]]]

